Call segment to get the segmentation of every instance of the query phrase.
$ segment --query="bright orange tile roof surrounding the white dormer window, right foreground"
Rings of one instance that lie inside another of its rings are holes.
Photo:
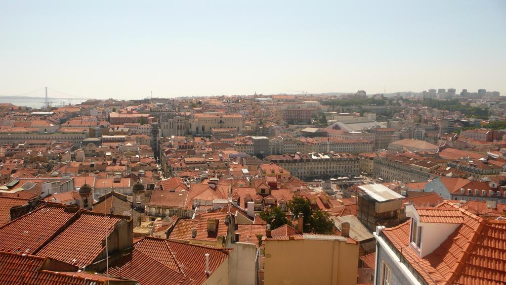
[[[429,284],[506,282],[506,221],[482,219],[450,202],[438,208],[458,209],[462,223],[424,258],[409,246],[410,220],[383,234]]]

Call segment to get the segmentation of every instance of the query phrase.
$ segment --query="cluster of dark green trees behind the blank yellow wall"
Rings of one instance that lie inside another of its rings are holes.
[[[288,202],[288,209],[294,214],[293,218],[299,218],[299,213],[304,216],[303,231],[306,233],[331,234],[334,232],[334,224],[329,219],[327,212],[311,208],[311,202],[303,197],[293,197]],[[283,225],[292,226],[291,220],[286,213],[278,206],[267,207],[260,213],[260,217],[271,225],[271,229]],[[301,225],[298,225],[300,227]]]

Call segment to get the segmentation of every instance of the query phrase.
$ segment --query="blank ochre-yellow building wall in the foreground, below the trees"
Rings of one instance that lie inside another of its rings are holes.
[[[340,240],[266,240],[264,284],[357,283],[358,244]]]

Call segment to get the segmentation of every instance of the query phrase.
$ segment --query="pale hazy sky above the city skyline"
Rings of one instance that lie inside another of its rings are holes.
[[[503,95],[505,51],[504,0],[0,0],[0,95]]]

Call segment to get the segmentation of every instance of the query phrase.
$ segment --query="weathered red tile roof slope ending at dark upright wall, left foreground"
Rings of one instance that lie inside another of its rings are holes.
[[[102,253],[102,242],[123,220],[120,216],[99,213],[82,214],[63,232],[38,252],[38,256],[54,258],[79,267],[89,265]]]

